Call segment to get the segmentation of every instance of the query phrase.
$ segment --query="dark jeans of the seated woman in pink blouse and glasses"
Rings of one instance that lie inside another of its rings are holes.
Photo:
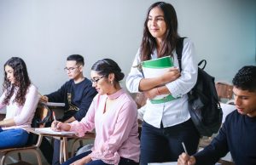
[[[78,156],[73,156],[72,158],[68,159],[67,162],[62,163],[61,165],[69,165],[69,164],[83,158],[84,156],[88,156],[90,153],[91,153],[91,151],[87,151],[87,152],[84,152],[84,153],[82,153]],[[110,165],[110,164],[105,163],[102,160],[96,160],[96,161],[88,162],[85,165]],[[124,157],[121,157],[120,161],[119,161],[119,165],[139,165],[139,163],[134,162],[130,159],[126,159]]]

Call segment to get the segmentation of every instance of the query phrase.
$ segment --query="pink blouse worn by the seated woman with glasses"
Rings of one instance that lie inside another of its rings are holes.
[[[107,98],[116,101],[111,109],[103,113]],[[96,128],[96,139],[90,154],[92,160],[118,164],[122,156],[139,162],[137,105],[124,89],[111,95],[97,94],[86,116],[70,125],[71,131],[80,137]]]

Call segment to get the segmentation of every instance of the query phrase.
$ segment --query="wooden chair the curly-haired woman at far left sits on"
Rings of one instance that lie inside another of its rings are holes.
[[[35,121],[37,117],[39,117],[38,119],[40,119],[40,121],[44,121],[45,117],[47,117],[47,114],[49,114],[48,107],[44,104],[38,103],[38,108],[36,110],[35,117],[33,118],[33,121]],[[38,123],[38,127],[40,127],[40,128],[44,127],[44,123],[43,122]],[[32,136],[33,136],[33,134],[29,134],[28,142],[30,142],[30,139],[32,139]],[[35,145],[28,144],[28,145],[23,146],[23,147],[8,148],[8,149],[0,150],[0,153],[3,154],[0,164],[4,165],[5,162],[6,162],[7,157],[12,155],[12,154],[15,154],[15,153],[18,154],[19,163],[25,163],[21,159],[21,153],[30,152],[30,153],[33,153],[33,154],[36,155],[38,165],[42,165],[40,152],[38,151],[38,147],[41,145],[42,138],[43,138],[43,136],[38,136],[38,140],[37,140],[37,143]]]

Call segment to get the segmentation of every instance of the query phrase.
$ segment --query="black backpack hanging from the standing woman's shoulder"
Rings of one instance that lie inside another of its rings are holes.
[[[183,39],[177,41],[176,53],[180,70],[182,70]],[[188,93],[189,113],[201,136],[212,136],[218,133],[222,122],[223,112],[218,102],[218,94],[215,88],[214,77],[204,71],[207,60],[201,60],[198,67],[198,77],[194,88]]]

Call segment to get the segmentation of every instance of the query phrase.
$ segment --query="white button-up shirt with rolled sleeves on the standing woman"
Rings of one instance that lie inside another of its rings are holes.
[[[176,50],[172,52],[173,64],[179,67]],[[147,100],[146,110],[143,115],[143,120],[153,125],[155,128],[160,128],[160,122],[163,122],[164,128],[177,125],[189,120],[189,104],[187,93],[195,86],[197,80],[197,60],[195,55],[194,44],[185,38],[183,41],[182,53],[182,71],[181,77],[171,83],[166,83],[166,88],[176,100],[166,103],[152,104]],[[156,59],[157,53],[151,54],[151,59]],[[137,51],[135,60],[132,66],[140,64],[140,49]],[[139,83],[143,79],[143,72],[136,67],[131,67],[131,71],[126,79],[126,87],[131,93],[138,93]],[[180,98],[178,98],[180,97]]]

